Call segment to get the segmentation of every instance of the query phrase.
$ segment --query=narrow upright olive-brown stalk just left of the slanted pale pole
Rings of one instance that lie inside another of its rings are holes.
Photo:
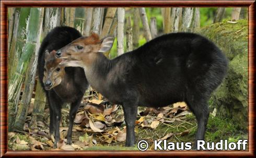
[[[133,49],[138,47],[139,40],[139,11],[138,8],[133,9]]]

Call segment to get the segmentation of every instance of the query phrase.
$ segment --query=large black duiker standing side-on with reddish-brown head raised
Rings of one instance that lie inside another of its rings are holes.
[[[111,102],[122,104],[126,146],[135,143],[137,106],[162,107],[184,101],[196,116],[195,136],[203,140],[208,100],[227,71],[227,59],[208,39],[194,33],[162,35],[112,60],[113,38],[81,37],[57,51],[64,66],[85,70],[88,82]],[[196,147],[195,147],[196,148]]]

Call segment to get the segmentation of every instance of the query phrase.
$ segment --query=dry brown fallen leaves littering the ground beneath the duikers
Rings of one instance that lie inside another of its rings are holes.
[[[26,118],[24,132],[16,131],[8,133],[8,146],[11,150],[85,150],[95,145],[119,145],[125,146],[126,126],[122,106],[109,103],[106,98],[96,91],[90,91],[91,95],[85,96],[76,114],[73,125],[73,143],[66,144],[68,123],[66,114],[62,116],[60,125],[60,141],[54,149],[54,137],[49,133],[49,107],[45,108],[44,121],[36,121],[32,113]],[[31,103],[32,104],[32,103]],[[30,110],[32,111],[32,110]],[[62,112],[68,113],[69,110]],[[191,112],[184,102],[178,102],[162,108],[139,107],[138,117],[135,121],[135,132],[150,130],[154,132],[161,124],[171,126],[175,121],[181,121],[182,117]],[[64,117],[65,116],[65,117]],[[68,116],[68,115],[67,115]],[[190,130],[184,130],[176,135],[188,135]],[[24,135],[27,139],[20,139]],[[158,140],[169,139],[174,135],[172,132],[164,133]],[[151,139],[148,137],[145,139]]]

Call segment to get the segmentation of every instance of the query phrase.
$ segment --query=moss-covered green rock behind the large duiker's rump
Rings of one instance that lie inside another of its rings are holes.
[[[212,97],[217,114],[232,118],[241,129],[247,129],[248,21],[214,23],[197,33],[212,40],[229,59],[227,76]]]

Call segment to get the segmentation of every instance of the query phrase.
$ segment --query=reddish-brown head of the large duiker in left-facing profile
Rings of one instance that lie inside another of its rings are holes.
[[[57,58],[62,58],[62,66],[87,67],[94,63],[97,53],[108,52],[113,45],[114,38],[99,39],[92,33],[89,37],[81,37],[69,43],[56,52]]]

